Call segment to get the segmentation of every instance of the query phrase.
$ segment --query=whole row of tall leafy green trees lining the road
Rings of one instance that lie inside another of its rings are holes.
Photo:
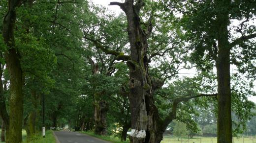
[[[23,127],[28,141],[41,130],[43,96],[46,127],[105,135],[118,123],[122,140],[131,128],[130,143],[160,143],[174,119],[196,131],[197,109],[216,114],[218,143],[232,143],[232,128],[246,130],[255,107],[247,97],[255,95],[256,0],[109,5],[123,13],[87,0],[0,1],[6,143],[21,143]],[[197,74],[182,77],[184,70]]]

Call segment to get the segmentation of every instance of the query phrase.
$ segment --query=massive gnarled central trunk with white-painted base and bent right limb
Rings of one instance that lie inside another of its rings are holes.
[[[216,94],[178,97],[174,99],[169,115],[165,119],[160,119],[158,108],[154,104],[153,94],[162,87],[164,81],[150,76],[148,72],[150,60],[146,54],[147,39],[152,31],[152,19],[148,20],[147,29],[141,28],[138,14],[140,8],[144,5],[144,0],[136,0],[135,4],[134,0],[125,0],[124,3],[110,2],[109,5],[119,5],[126,13],[128,21],[130,56],[127,65],[130,77],[130,143],[160,143],[166,127],[173,119],[176,119],[176,111],[180,102],[200,96],[216,96]]]

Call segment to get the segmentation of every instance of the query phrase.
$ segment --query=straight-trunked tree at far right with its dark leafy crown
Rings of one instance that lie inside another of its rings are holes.
[[[256,37],[256,27],[250,22],[256,15],[253,6],[256,1],[165,1],[168,8],[183,14],[181,22],[185,23],[182,26],[189,35],[191,49],[195,49],[193,58],[199,69],[206,70],[215,64],[218,80],[218,143],[232,143],[230,64],[243,67],[243,64],[254,59],[252,54],[251,58],[244,58],[252,53],[249,47],[255,51],[254,41],[250,39]],[[240,24],[232,25],[235,20],[241,21]]]

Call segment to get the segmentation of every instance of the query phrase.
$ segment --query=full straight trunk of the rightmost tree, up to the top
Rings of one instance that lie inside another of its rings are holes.
[[[230,48],[228,42],[228,11],[225,6],[230,0],[217,2],[222,9],[217,15],[218,58],[216,61],[218,79],[218,143],[232,143],[231,89],[230,89]]]

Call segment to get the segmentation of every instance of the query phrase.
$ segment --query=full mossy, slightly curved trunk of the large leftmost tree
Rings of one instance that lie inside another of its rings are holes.
[[[8,0],[8,11],[3,20],[3,39],[8,47],[4,58],[10,75],[10,122],[9,143],[22,142],[23,95],[22,70],[19,53],[14,43],[14,25],[16,21],[15,8],[21,5],[22,0]]]

